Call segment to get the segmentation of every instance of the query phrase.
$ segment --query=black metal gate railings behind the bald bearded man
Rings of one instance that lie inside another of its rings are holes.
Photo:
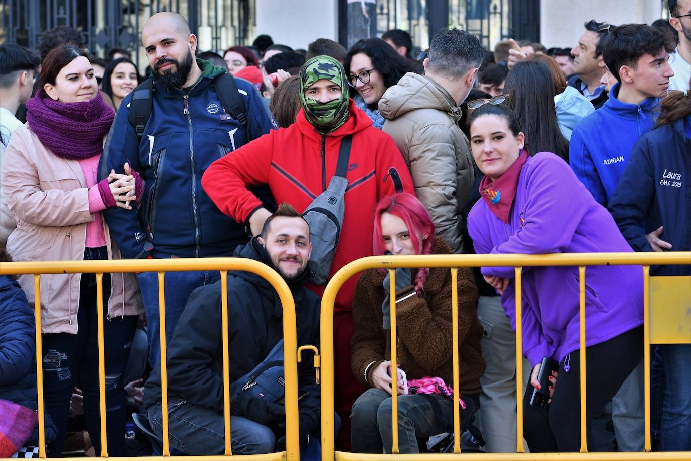
[[[56,26],[80,32],[90,53],[108,48],[137,50],[146,19],[160,11],[187,17],[202,32],[203,49],[245,44],[255,24],[254,0],[0,0],[0,43],[37,48],[41,35]],[[133,57],[139,61],[139,53]],[[139,64],[139,62],[137,63]]]

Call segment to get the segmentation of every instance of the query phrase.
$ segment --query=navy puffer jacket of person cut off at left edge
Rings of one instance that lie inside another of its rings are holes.
[[[0,275],[0,399],[38,411],[35,325],[19,283]],[[46,414],[46,442],[56,437],[53,420]],[[25,445],[38,444],[37,424]]]

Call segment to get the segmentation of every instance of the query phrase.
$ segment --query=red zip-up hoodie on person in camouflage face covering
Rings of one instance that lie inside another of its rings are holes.
[[[294,124],[270,131],[216,160],[202,177],[202,187],[218,209],[238,223],[246,223],[262,206],[247,190],[252,185],[268,184],[277,204],[287,202],[303,212],[328,187],[336,173],[341,139],[352,135],[345,219],[330,277],[350,261],[372,255],[375,206],[380,198],[395,194],[395,182],[415,194],[406,162],[392,138],[373,128],[372,121],[352,100],[348,114],[343,126],[322,135],[307,122],[301,109]],[[394,174],[391,169],[395,169]],[[343,285],[334,306],[336,312],[350,312],[356,279],[351,277]],[[311,288],[323,294],[323,286]]]

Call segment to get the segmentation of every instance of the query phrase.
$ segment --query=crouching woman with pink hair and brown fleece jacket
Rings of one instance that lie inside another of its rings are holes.
[[[395,194],[375,209],[374,254],[451,254],[435,237],[424,205],[411,194]],[[445,267],[396,270],[397,331],[390,330],[388,271],[370,269],[357,281],[352,317],[351,367],[370,387],[350,413],[352,451],[390,453],[390,335],[397,335],[398,433],[400,453],[419,453],[418,437],[453,431],[453,338],[451,271]],[[466,268],[458,270],[461,430],[480,406],[484,359],[482,326],[477,319],[477,288]]]

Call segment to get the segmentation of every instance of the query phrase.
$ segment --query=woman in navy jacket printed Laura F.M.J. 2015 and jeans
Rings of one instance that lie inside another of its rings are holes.
[[[638,140],[609,203],[634,250],[691,250],[690,146],[689,91],[670,91],[661,101],[656,129]],[[650,273],[691,275],[691,264],[651,266]],[[691,344],[661,344],[657,353],[663,375],[660,450],[691,451]]]

